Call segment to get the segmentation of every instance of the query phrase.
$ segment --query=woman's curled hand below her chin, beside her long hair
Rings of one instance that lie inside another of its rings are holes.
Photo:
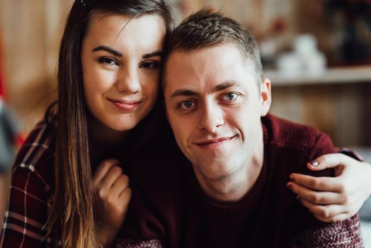
[[[104,160],[93,175],[98,239],[103,247],[113,243],[125,220],[132,194],[129,179],[118,164],[115,159]]]

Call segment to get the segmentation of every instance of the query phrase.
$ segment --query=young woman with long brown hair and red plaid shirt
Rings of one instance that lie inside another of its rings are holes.
[[[18,153],[0,247],[111,244],[131,193],[118,161],[135,165],[164,120],[156,98],[170,29],[162,0],[75,1],[59,52],[57,105]],[[305,186],[297,176],[294,184]]]

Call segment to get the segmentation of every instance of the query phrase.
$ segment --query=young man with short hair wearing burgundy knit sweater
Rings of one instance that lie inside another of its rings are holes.
[[[249,31],[200,11],[167,47],[166,115],[185,157],[166,147],[168,157],[141,158],[152,166],[132,172],[117,247],[363,247],[358,215],[320,222],[287,189],[294,172],[333,176],[306,164],[337,149],[318,130],[268,114],[270,81]]]

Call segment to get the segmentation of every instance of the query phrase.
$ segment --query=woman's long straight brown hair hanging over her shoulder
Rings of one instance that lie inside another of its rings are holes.
[[[89,158],[88,112],[83,89],[81,44],[92,13],[158,14],[166,33],[172,21],[163,0],[77,0],[59,49],[55,193],[46,229],[55,247],[99,247]],[[58,244],[59,243],[59,244]]]

